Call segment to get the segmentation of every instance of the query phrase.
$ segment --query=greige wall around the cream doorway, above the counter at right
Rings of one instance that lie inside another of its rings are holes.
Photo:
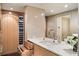
[[[70,15],[70,34],[78,33],[78,9],[63,12],[54,16],[47,17],[47,33],[49,33],[50,29],[53,29],[56,33],[57,31],[57,18],[65,15]],[[48,36],[48,34],[47,34]],[[49,36],[48,36],[49,37]]]

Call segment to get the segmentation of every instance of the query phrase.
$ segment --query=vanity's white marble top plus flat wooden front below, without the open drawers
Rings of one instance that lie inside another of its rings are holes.
[[[35,38],[29,39],[34,44],[35,56],[77,56],[73,51],[73,47],[68,43],[62,41],[61,43],[54,43],[52,39]]]

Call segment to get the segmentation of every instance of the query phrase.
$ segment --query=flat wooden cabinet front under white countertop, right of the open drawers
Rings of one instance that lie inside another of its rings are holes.
[[[57,54],[34,44],[34,56],[57,56]]]

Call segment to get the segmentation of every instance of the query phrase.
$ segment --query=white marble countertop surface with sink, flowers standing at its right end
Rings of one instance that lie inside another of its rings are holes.
[[[34,38],[29,39],[29,41],[60,56],[77,56],[77,53],[72,50],[73,47],[64,41],[61,43],[53,43],[53,40],[49,38],[45,38],[45,40],[42,38]]]

